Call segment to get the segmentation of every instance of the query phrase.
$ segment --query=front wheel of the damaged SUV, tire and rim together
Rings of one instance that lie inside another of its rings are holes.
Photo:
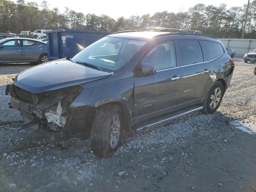
[[[122,112],[118,105],[106,104],[96,111],[91,132],[91,147],[98,157],[111,156],[121,144]]]

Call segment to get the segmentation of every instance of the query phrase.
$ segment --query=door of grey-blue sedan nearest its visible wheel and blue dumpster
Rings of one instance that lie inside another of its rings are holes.
[[[33,40],[22,40],[22,42],[22,59],[24,61],[38,61],[44,46],[42,44],[40,46],[37,41]]]

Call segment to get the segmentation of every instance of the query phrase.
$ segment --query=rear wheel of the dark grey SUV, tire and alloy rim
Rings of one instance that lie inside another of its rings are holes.
[[[220,106],[222,97],[224,95],[224,88],[221,82],[217,81],[204,99],[203,112],[206,114],[214,113]]]

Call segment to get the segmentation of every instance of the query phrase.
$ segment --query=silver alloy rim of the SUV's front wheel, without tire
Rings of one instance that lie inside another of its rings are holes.
[[[110,126],[109,144],[112,149],[114,149],[118,143],[120,136],[120,118],[117,113],[112,117],[112,122]]]

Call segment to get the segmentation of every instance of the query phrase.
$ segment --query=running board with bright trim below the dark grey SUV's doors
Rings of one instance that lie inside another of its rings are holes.
[[[159,118],[155,118],[155,119],[149,120],[149,121],[147,121],[145,123],[138,124],[138,126],[135,127],[135,130],[139,131],[139,130],[148,128],[150,126],[154,126],[154,125],[160,124],[160,123],[165,122],[165,121],[171,121],[171,120],[174,120],[174,119],[179,118],[181,116],[184,116],[184,115],[186,115],[188,113],[201,110],[202,108],[203,108],[203,106],[196,105],[196,106],[192,106],[190,108],[186,108],[186,109],[180,110],[178,112],[174,112],[174,113],[171,113],[171,114],[159,117]]]

